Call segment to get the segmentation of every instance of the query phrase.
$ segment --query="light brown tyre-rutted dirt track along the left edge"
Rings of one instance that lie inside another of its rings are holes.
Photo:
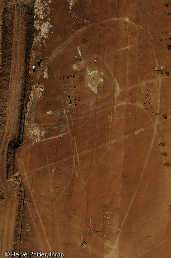
[[[16,141],[20,135],[21,97],[23,97],[23,90],[25,90],[25,63],[27,61],[25,48],[27,43],[25,35],[28,29],[25,19],[27,7],[22,7],[19,1],[15,2],[12,0],[7,6],[8,5],[13,9],[14,21],[6,124],[0,148],[0,162],[2,167],[0,171],[0,181],[5,195],[4,198],[6,198],[5,220],[1,242],[2,257],[7,250],[9,252],[12,250],[20,250],[20,232],[24,199],[24,189],[21,187],[20,181],[8,178],[8,158],[13,159],[13,157],[9,156],[11,154],[9,153],[9,144],[12,143],[12,141]],[[6,53],[6,55],[8,55],[8,53]],[[11,171],[11,174],[13,174],[13,171]]]

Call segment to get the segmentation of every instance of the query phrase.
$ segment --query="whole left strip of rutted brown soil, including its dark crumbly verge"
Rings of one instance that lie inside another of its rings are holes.
[[[2,14],[1,66],[1,147],[0,217],[1,256],[20,250],[24,188],[15,169],[15,150],[23,131],[24,99],[27,95],[27,66],[33,38],[33,6],[30,3],[4,2]],[[31,23],[30,23],[31,21]],[[30,25],[30,26],[29,26]],[[28,28],[30,31],[28,39]],[[29,46],[30,45],[30,46]]]

